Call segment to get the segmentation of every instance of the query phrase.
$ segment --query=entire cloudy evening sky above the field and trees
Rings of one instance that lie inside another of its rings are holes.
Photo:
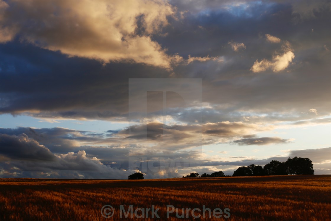
[[[0,0],[0,178],[331,174],[330,1]]]

